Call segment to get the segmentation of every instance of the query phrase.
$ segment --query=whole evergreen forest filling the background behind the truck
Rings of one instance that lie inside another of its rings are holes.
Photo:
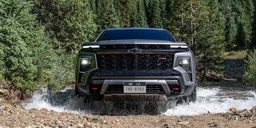
[[[189,42],[205,81],[223,73],[223,52],[256,47],[255,7],[255,0],[0,0],[0,81],[22,91],[65,87],[82,44],[120,27],[164,28]]]

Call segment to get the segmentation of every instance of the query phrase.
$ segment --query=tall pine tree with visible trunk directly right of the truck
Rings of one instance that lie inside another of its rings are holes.
[[[196,56],[198,76],[204,80],[207,74],[222,73],[220,55],[224,52],[225,45],[224,22],[217,16],[216,8],[218,9],[219,5],[216,0],[196,1],[194,7],[194,44],[191,49]]]

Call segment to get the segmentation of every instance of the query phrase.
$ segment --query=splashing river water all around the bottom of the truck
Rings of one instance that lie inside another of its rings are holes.
[[[240,83],[211,83],[208,87],[197,88],[197,100],[194,103],[176,104],[174,102],[95,102],[85,103],[83,97],[74,96],[74,89],[65,88],[59,94],[33,94],[29,103],[23,103],[26,109],[46,108],[56,112],[103,115],[202,115],[223,113],[229,108],[251,110],[256,106],[256,91],[243,88]],[[168,108],[165,108],[168,106]],[[162,109],[165,108],[165,109]],[[153,112],[154,111],[154,112]]]

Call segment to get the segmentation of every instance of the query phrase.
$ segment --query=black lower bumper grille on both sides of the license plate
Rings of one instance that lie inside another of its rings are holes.
[[[163,94],[163,89],[160,85],[147,85],[146,93]],[[106,93],[123,93],[123,85],[109,85]]]

